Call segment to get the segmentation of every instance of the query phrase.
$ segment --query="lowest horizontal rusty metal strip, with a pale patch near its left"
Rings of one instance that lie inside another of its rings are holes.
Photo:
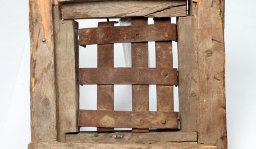
[[[179,128],[175,112],[79,110],[80,127]]]

